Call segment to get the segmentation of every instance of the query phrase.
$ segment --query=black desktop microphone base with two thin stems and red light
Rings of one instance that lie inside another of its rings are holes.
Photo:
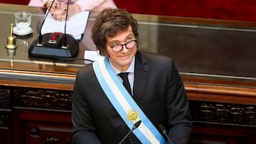
[[[29,56],[32,57],[50,57],[50,58],[70,58],[76,57],[79,51],[79,43],[78,40],[75,40],[73,36],[68,35],[66,33],[66,23],[68,20],[68,6],[69,0],[67,4],[66,16],[65,16],[65,26],[64,33],[53,32],[46,33],[42,35],[43,24],[48,17],[48,13],[50,13],[50,9],[52,8],[54,0],[50,5],[48,12],[46,13],[45,18],[41,24],[41,28],[39,30],[38,39],[34,40],[28,49]]]

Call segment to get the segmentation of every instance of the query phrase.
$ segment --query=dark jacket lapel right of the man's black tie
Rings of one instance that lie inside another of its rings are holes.
[[[134,100],[137,104],[142,103],[144,91],[146,88],[147,77],[149,76],[149,65],[147,65],[145,57],[137,51],[135,55],[134,67]]]

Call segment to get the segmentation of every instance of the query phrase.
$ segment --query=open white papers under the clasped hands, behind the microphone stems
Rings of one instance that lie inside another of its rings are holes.
[[[47,13],[47,12],[46,12]],[[71,16],[66,23],[66,33],[73,36],[73,38],[80,40],[82,34],[85,33],[85,27],[90,15],[90,11],[82,11],[74,16]],[[43,24],[41,33],[65,32],[65,21],[56,21],[49,13],[46,21]]]

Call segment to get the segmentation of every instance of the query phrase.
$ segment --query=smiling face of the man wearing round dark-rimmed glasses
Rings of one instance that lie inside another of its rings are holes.
[[[120,71],[125,71],[128,69],[132,62],[132,58],[137,52],[137,45],[134,48],[127,49],[125,45],[119,52],[113,52],[110,46],[120,45],[129,42],[130,40],[135,40],[132,27],[129,26],[127,31],[119,31],[116,35],[107,38],[107,53],[109,55],[109,60],[112,65]]]

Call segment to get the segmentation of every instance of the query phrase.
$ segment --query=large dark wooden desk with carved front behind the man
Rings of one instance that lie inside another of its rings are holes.
[[[34,31],[17,36],[15,55],[4,48],[16,11],[30,11]],[[45,9],[0,4],[0,143],[72,143],[70,114],[83,60],[29,57]],[[79,58],[95,50],[90,28]],[[193,143],[256,143],[256,23],[134,14],[139,50],[174,57],[194,120]],[[15,139],[11,138],[14,136]]]

